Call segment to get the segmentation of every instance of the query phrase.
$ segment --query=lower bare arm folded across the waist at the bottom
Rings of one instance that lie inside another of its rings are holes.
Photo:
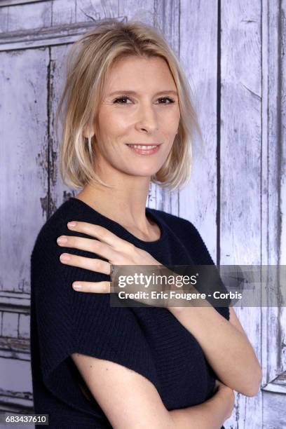
[[[195,407],[168,411],[151,381],[109,360],[71,355],[114,429],[219,429],[233,407],[223,389]]]

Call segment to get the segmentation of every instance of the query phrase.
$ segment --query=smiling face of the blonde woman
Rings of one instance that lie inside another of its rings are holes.
[[[117,60],[109,72],[93,130],[95,170],[108,172],[109,178],[114,169],[124,175],[154,175],[170,153],[179,117],[175,81],[162,58]]]

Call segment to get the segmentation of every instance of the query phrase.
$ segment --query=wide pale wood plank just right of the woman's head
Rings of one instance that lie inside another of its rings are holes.
[[[261,264],[261,2],[221,8],[218,243],[221,264]],[[219,112],[218,112],[219,113]],[[236,308],[261,360],[260,308]],[[227,428],[261,429],[261,393],[236,395]]]

